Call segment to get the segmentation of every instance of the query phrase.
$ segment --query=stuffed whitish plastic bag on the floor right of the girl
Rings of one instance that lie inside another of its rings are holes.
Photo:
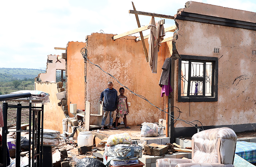
[[[158,136],[157,124],[143,122],[142,129],[140,131],[142,137]]]

